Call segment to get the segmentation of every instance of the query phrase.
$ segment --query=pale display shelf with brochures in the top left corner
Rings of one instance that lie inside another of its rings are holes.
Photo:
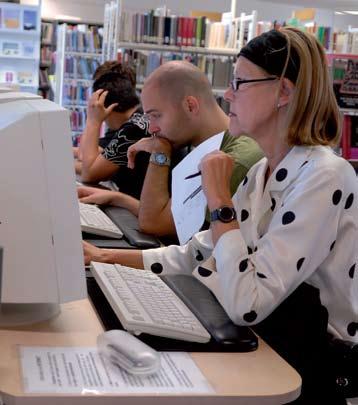
[[[0,2],[0,83],[36,93],[40,6]]]

